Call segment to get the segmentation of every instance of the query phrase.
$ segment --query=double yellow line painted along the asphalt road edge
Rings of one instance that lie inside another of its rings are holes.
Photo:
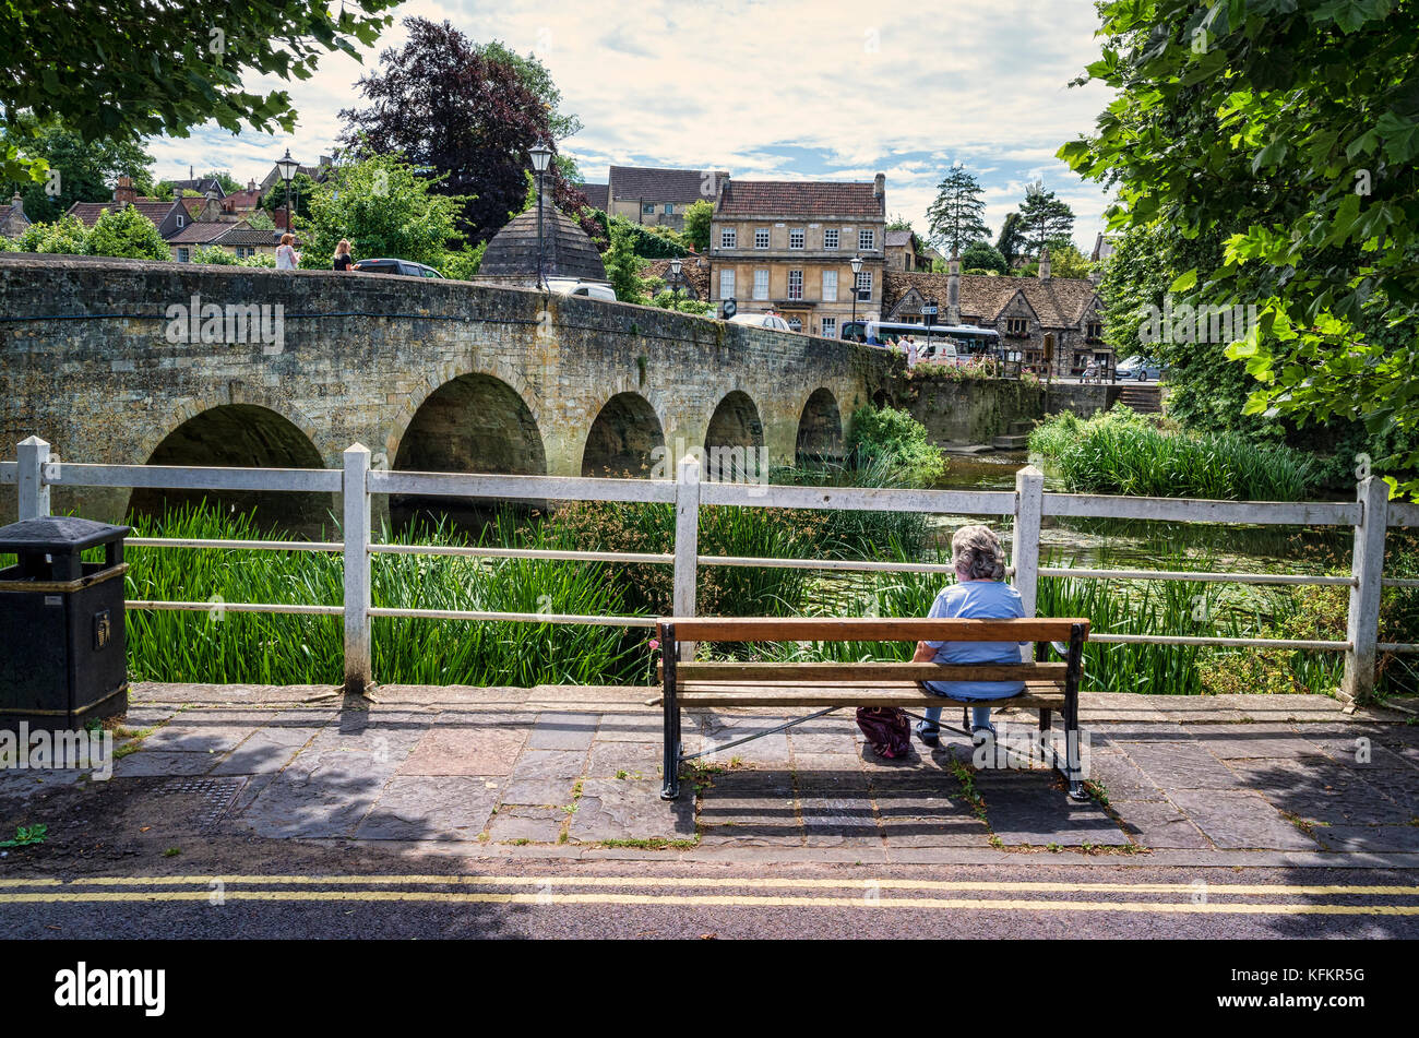
[[[762,891],[782,891],[786,893],[762,893]],[[1090,893],[1114,896],[1076,899],[1078,895]],[[1037,895],[1056,896],[1042,898]],[[1139,895],[1152,895],[1154,898],[1185,895],[1185,899],[1139,900]],[[1073,883],[1046,881],[566,875],[216,875],[94,876],[71,881],[0,879],[0,905],[105,902],[214,903],[219,898],[221,902],[433,902],[447,905],[528,905],[543,908],[644,905],[673,908],[964,909],[973,912],[1057,913],[1419,916],[1419,886],[1399,885]],[[1283,898],[1287,900],[1277,900]],[[1354,899],[1381,900],[1355,903]]]

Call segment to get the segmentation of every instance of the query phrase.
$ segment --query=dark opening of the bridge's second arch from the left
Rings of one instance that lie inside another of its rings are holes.
[[[390,437],[390,467],[414,472],[545,475],[546,448],[526,396],[482,372],[457,374],[412,413]],[[447,515],[477,522],[485,506],[454,498],[390,496],[396,529],[419,518]]]

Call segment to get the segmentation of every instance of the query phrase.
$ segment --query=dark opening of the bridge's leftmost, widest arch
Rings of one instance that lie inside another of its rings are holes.
[[[309,428],[264,404],[236,401],[189,406],[166,435],[145,445],[146,465],[211,468],[325,468]],[[138,488],[128,510],[160,516],[201,501],[221,512],[254,513],[261,529],[275,525],[294,533],[322,536],[331,523],[331,495],[275,491],[177,491]]]

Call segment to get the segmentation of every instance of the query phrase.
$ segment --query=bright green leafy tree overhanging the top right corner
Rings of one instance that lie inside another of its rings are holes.
[[[1060,156],[1115,187],[1111,228],[1218,234],[1182,269],[1188,303],[1253,305],[1227,347],[1250,414],[1362,421],[1419,492],[1419,7],[1191,0],[1100,4],[1118,92]],[[1176,142],[1192,146],[1179,147]]]

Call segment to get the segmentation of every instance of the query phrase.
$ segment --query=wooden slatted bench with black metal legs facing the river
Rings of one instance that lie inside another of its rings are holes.
[[[823,708],[780,732],[844,706],[1025,706],[1039,710],[1040,732],[1051,716],[1064,720],[1066,756],[1056,764],[1070,797],[1086,797],[1078,756],[1078,679],[1088,621],[1030,620],[878,620],[878,618],[663,618],[660,634],[661,706],[664,709],[664,783],[660,796],[680,796],[680,764],[685,759],[680,712],[688,706],[816,706]],[[685,642],[755,641],[1010,641],[1034,642],[1034,662],[691,662],[678,659]],[[1047,662],[1050,642],[1064,642],[1061,662]],[[1023,681],[1025,692],[1009,699],[961,701],[928,692],[925,681]],[[748,739],[735,740],[748,742]],[[721,747],[725,749],[725,747]],[[698,754],[697,754],[698,756]]]

